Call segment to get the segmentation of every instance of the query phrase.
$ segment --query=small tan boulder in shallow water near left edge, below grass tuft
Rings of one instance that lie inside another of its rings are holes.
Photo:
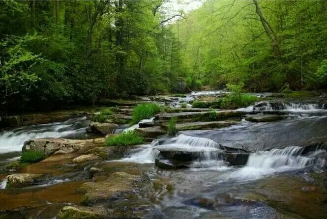
[[[7,176],[7,188],[25,187],[41,181],[42,174],[36,173],[16,173]]]

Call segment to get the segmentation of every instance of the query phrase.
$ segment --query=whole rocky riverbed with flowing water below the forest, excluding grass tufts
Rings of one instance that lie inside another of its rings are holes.
[[[327,218],[327,100],[253,94],[269,98],[214,118],[191,108],[226,93],[104,100],[117,107],[103,123],[88,112],[2,131],[0,218]],[[121,124],[144,102],[165,111]],[[147,143],[104,146],[128,130]],[[22,149],[46,157],[22,165]]]

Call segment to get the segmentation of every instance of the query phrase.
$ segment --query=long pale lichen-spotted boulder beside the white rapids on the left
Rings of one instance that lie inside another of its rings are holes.
[[[41,151],[46,156],[49,156],[57,151],[60,153],[71,153],[77,151],[88,150],[95,146],[103,145],[102,141],[95,139],[89,140],[73,140],[65,138],[36,138],[25,141],[23,146],[24,151]]]

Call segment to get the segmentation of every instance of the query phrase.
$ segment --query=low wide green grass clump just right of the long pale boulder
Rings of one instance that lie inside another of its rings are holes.
[[[144,143],[144,138],[137,135],[135,131],[128,131],[117,136],[108,137],[105,141],[106,146],[128,146]]]

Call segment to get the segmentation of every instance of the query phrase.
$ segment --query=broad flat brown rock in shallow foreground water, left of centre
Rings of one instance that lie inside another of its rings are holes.
[[[133,192],[134,182],[140,180],[139,176],[125,172],[115,172],[103,181],[87,182],[79,188],[86,192],[83,204],[117,199],[123,194]]]

